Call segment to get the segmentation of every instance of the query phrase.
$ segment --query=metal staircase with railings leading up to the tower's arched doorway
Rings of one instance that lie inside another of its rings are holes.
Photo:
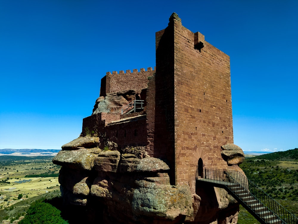
[[[298,224],[298,218],[235,170],[201,168],[197,184],[224,188],[262,224]]]

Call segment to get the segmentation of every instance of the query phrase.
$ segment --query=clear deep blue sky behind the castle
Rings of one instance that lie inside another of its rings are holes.
[[[234,143],[298,147],[298,1],[0,1],[0,148],[80,135],[110,71],[155,66],[155,32],[182,24],[230,56]]]

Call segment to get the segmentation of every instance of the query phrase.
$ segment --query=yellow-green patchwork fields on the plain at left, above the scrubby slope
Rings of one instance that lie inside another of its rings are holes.
[[[60,166],[52,163],[53,157],[1,157],[0,209],[60,188]]]

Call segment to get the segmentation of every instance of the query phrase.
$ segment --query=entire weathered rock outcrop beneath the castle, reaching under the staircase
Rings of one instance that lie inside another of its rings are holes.
[[[53,159],[62,166],[65,205],[83,206],[88,223],[237,223],[238,203],[224,189],[198,186],[192,194],[188,184],[170,185],[162,160],[140,157],[139,148],[102,151],[94,147],[98,142],[79,137]]]

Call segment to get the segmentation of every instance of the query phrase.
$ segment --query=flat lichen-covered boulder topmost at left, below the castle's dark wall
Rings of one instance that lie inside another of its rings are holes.
[[[78,137],[71,142],[62,145],[62,150],[77,150],[81,148],[96,148],[99,145],[99,137]]]

